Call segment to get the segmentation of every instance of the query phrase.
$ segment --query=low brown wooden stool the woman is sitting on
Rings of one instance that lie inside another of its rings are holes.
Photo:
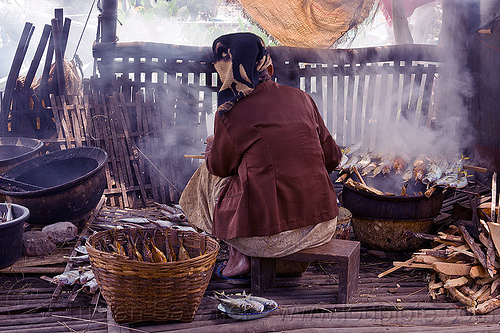
[[[358,289],[359,242],[332,239],[329,243],[280,258],[292,261],[326,261],[339,264],[339,303],[349,303]],[[251,292],[262,295],[276,277],[276,258],[251,258]]]

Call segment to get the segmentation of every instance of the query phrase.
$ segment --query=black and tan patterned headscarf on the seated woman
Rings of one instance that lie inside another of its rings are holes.
[[[212,51],[214,66],[222,81],[217,111],[223,115],[255,89],[259,74],[272,60],[264,41],[248,32],[220,36],[214,41]]]

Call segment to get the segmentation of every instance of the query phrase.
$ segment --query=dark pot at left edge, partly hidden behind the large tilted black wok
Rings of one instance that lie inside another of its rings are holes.
[[[43,142],[38,139],[0,137],[0,174],[35,157],[42,148]]]

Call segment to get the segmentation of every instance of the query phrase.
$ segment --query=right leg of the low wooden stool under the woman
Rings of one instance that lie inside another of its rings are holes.
[[[349,303],[351,297],[358,290],[360,247],[349,257],[339,258],[339,303]]]

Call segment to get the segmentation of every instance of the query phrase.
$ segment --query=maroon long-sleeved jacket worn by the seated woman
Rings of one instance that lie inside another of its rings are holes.
[[[328,173],[341,151],[308,94],[263,82],[215,116],[214,136],[207,168],[232,176],[215,207],[215,237],[269,236],[338,215]]]

